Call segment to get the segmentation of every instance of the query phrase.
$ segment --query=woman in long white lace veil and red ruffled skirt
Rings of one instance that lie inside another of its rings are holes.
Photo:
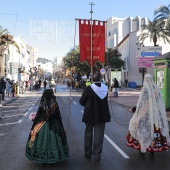
[[[147,74],[141,89],[135,112],[129,123],[129,133],[126,137],[127,146],[145,153],[168,150],[169,127],[165,105],[159,88],[151,75]]]

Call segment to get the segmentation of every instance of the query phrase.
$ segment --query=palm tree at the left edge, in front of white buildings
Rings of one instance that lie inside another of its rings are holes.
[[[4,67],[4,54],[5,51],[9,54],[9,46],[13,45],[17,48],[18,53],[20,53],[19,46],[15,41],[13,41],[13,36],[11,36],[7,29],[4,29],[0,26],[0,75],[4,75],[5,67]]]

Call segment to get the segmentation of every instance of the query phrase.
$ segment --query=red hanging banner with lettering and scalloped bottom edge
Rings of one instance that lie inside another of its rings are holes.
[[[96,61],[104,63],[105,60],[105,21],[79,19],[79,44],[80,62],[87,62],[94,65]],[[91,41],[92,40],[92,41]],[[92,42],[92,48],[91,48]],[[92,55],[91,55],[92,49]]]

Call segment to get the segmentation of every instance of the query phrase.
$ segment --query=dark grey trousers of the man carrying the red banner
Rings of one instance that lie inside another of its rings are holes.
[[[88,157],[93,156],[95,159],[100,159],[103,147],[105,123],[86,124],[84,134],[84,151]],[[94,135],[93,135],[94,131]]]

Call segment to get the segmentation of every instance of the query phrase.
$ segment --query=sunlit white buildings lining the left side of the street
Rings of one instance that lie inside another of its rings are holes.
[[[36,66],[37,49],[28,46],[22,37],[14,37],[19,51],[14,45],[9,47],[6,77],[11,80],[29,80],[30,68]]]

